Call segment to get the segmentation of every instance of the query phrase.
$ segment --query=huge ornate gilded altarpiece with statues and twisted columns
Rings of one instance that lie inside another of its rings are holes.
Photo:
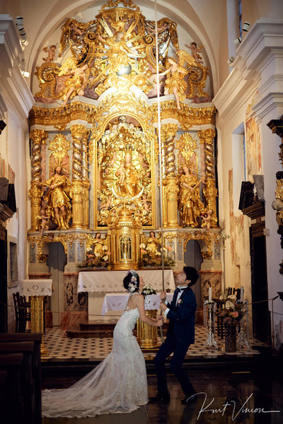
[[[156,40],[139,6],[119,4],[108,1],[88,23],[69,18],[59,47],[67,59],[59,66],[52,45],[36,70],[29,271],[46,273],[48,247],[62,242],[74,293],[79,264],[150,269],[163,255],[179,270],[187,240],[200,242],[202,275],[221,273],[209,68],[201,47],[179,49],[173,20],[158,20]],[[76,305],[83,317],[82,298]]]

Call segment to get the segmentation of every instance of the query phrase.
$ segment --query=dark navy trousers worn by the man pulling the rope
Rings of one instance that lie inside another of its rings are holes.
[[[160,346],[154,359],[159,394],[168,392],[165,361],[172,352],[174,353],[170,363],[171,372],[178,378],[185,395],[195,392],[187,373],[182,369],[183,360],[189,346],[190,344],[178,343],[173,334],[167,336],[166,341]]]

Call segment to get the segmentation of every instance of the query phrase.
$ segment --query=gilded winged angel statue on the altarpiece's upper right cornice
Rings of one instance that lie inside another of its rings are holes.
[[[185,50],[178,50],[176,52],[178,61],[173,57],[168,58],[170,68],[166,71],[159,73],[159,76],[167,75],[171,73],[171,76],[166,79],[165,88],[169,94],[174,94],[177,102],[178,110],[180,110],[180,102],[185,100],[185,91],[187,90],[187,83],[184,80],[184,76],[189,73],[189,70],[184,66],[185,63],[189,66],[196,66],[195,59],[185,52]]]

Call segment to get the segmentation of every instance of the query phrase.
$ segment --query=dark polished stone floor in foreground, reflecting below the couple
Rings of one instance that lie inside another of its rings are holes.
[[[271,361],[257,370],[249,371],[247,366],[235,370],[230,364],[226,369],[190,372],[199,394],[197,401],[187,406],[180,403],[183,393],[175,377],[169,375],[169,404],[149,403],[134,413],[95,418],[43,418],[42,424],[283,424],[282,369],[277,370]],[[60,382],[61,387],[67,387],[70,379]],[[50,386],[49,381],[45,387]],[[56,386],[59,387],[58,382]],[[149,371],[148,387],[149,396],[154,396],[156,377],[152,371]]]

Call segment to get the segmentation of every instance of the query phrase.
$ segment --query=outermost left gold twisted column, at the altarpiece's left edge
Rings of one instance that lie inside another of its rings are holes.
[[[42,167],[41,167],[41,146],[46,143],[47,132],[42,129],[32,129],[30,131],[30,140],[32,143],[32,158],[31,158],[31,176],[30,189],[28,196],[30,198],[31,216],[30,230],[37,230],[37,216],[40,215],[40,197],[42,188],[37,186],[37,182],[41,182]]]

